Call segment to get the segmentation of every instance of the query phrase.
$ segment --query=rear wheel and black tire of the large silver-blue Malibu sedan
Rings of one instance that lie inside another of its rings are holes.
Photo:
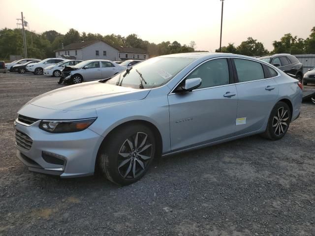
[[[278,122],[280,118],[280,121]],[[277,120],[278,119],[278,120]],[[286,134],[291,121],[291,111],[285,102],[278,102],[270,113],[264,138],[279,140]]]

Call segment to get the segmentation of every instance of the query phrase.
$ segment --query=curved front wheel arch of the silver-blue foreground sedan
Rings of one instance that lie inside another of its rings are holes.
[[[101,144],[99,145],[98,147],[98,150],[97,150],[97,155],[96,155],[96,158],[95,158],[95,170],[97,169],[96,166],[97,166],[97,159],[99,157],[99,152],[101,150],[101,147],[103,146],[103,144],[106,142],[106,140],[108,138],[110,138],[110,136],[116,131],[118,130],[119,128],[122,128],[126,125],[132,125],[132,124],[143,124],[147,127],[149,127],[155,137],[156,137],[156,142],[157,142],[157,149],[156,149],[156,157],[160,157],[162,155],[162,150],[163,150],[163,142],[162,142],[162,136],[161,136],[161,133],[160,131],[158,130],[158,127],[153,124],[152,122],[148,121],[148,120],[144,120],[144,119],[134,119],[134,120],[129,120],[129,121],[125,121],[123,123],[120,123],[118,125],[116,125],[114,128],[111,129],[110,132],[108,132],[104,138],[103,138],[103,141],[101,142]]]

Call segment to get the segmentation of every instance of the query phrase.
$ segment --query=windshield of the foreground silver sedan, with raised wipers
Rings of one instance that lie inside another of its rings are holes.
[[[195,59],[192,58],[152,58],[130,67],[129,72],[122,73],[107,80],[105,83],[111,85],[131,87],[139,89],[141,87],[141,76],[146,81],[143,83],[144,89],[157,88],[170,81],[177,73],[184,69]],[[140,74],[141,76],[140,76]],[[123,77],[125,75],[125,77]],[[142,87],[141,87],[142,88]]]

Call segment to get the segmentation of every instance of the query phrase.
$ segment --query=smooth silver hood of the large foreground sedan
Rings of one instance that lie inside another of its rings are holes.
[[[56,89],[33,98],[29,104],[63,111],[95,109],[144,99],[150,89],[132,89],[97,81]]]

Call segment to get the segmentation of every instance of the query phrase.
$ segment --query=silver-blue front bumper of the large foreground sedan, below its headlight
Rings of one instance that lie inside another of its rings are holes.
[[[97,151],[103,140],[100,135],[89,128],[73,133],[49,133],[39,129],[39,122],[25,126],[15,121],[17,133],[32,140],[31,148],[21,145],[21,136],[17,136],[16,142],[17,157],[30,171],[60,177],[93,175]],[[56,157],[60,160],[58,164]]]

